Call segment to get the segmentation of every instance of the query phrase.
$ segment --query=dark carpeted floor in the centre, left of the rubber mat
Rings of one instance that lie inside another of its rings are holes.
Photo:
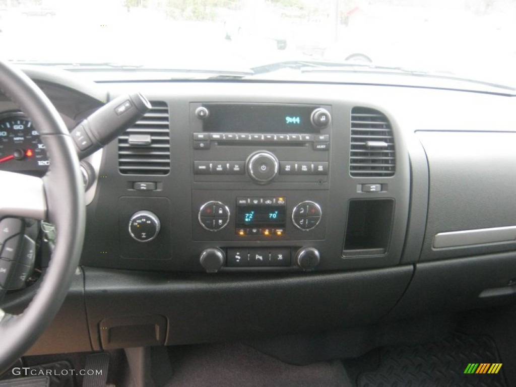
[[[307,366],[283,363],[242,344],[171,348],[174,376],[168,387],[349,387],[340,361]]]

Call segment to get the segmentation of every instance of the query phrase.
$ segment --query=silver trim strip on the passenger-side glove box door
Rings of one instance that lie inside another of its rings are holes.
[[[516,226],[438,233],[433,238],[433,248],[467,247],[516,240]]]

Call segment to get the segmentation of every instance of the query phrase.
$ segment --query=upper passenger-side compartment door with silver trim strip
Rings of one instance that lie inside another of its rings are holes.
[[[516,133],[417,136],[430,171],[421,261],[516,249]]]

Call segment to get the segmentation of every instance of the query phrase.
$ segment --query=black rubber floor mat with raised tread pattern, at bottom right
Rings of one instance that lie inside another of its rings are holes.
[[[477,364],[478,366],[470,366]],[[508,387],[496,345],[487,336],[454,334],[439,343],[380,349],[380,366],[357,378],[358,387]],[[497,366],[493,366],[496,370]],[[474,369],[473,373],[465,373]],[[481,373],[486,370],[486,373]],[[478,371],[478,373],[476,373]]]

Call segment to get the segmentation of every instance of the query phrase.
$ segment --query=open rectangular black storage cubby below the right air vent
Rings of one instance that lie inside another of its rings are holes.
[[[389,247],[394,200],[350,200],[342,255],[381,255]]]

